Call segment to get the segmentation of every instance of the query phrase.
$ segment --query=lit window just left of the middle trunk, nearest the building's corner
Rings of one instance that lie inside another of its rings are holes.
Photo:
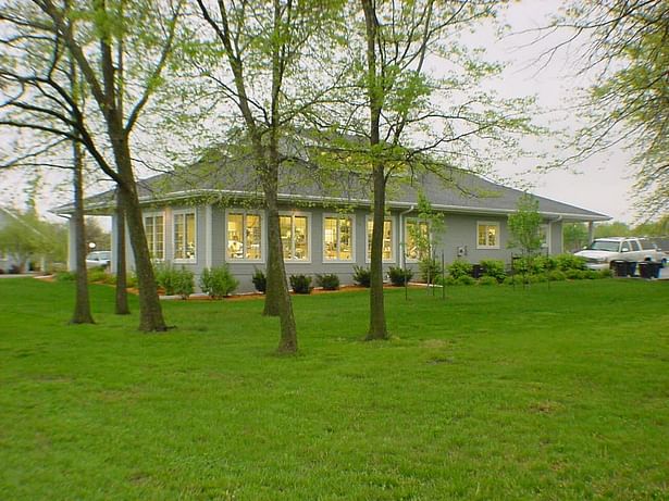
[[[262,216],[235,211],[227,214],[227,259],[260,261],[262,259]]]

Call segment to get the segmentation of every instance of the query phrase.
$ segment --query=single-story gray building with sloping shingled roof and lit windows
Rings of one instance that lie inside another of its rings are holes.
[[[251,275],[256,268],[264,270],[268,249],[262,191],[252,170],[239,161],[202,161],[143,180],[138,191],[156,261],[184,266],[196,276],[205,267],[228,264],[240,283],[239,290],[252,290]],[[372,202],[364,176],[296,163],[283,167],[278,192],[286,273],[332,273],[343,284],[351,283],[354,266],[370,263]],[[417,211],[419,192],[430,200],[433,211],[443,214],[445,230],[431,235],[438,259],[443,253],[446,262],[458,258],[472,263],[482,259],[510,261],[513,251],[507,245],[507,218],[522,192],[451,168],[446,176],[423,174],[388,186],[383,241],[386,270],[418,265],[413,235],[429,231]],[[609,220],[536,198],[544,218],[544,249],[549,254],[562,250],[563,222],[587,222],[592,230],[594,222]],[[85,203],[87,213],[114,217],[113,191]],[[72,206],[54,212],[71,214]],[[112,234],[112,248],[115,238]],[[132,259],[128,263],[132,265]]]

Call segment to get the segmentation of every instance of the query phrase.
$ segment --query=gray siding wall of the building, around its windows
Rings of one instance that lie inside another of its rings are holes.
[[[174,213],[182,210],[196,212],[196,259],[191,262],[174,261]],[[196,275],[196,289],[199,275],[205,267],[220,266],[225,263],[230,265],[231,272],[239,280],[239,292],[250,292],[253,290],[251,276],[256,268],[265,270],[267,267],[267,218],[262,211],[262,259],[258,262],[246,262],[231,260],[226,255],[226,221],[230,209],[222,206],[197,206],[187,205],[164,208],[162,210],[147,210],[146,213],[163,212],[165,217],[165,261],[177,266],[184,266]],[[369,266],[367,260],[367,235],[366,227],[369,210],[357,209],[350,214],[355,218],[354,233],[354,254],[355,260],[350,262],[332,262],[323,259],[323,218],[326,214],[336,214],[336,211],[322,208],[293,208],[285,205],[281,208],[284,213],[307,214],[309,217],[309,251],[310,260],[307,262],[286,262],[287,275],[305,274],[315,275],[334,273],[339,276],[342,284],[352,284],[354,266]],[[405,263],[404,246],[400,242],[400,234],[405,234],[404,225],[407,218],[416,217],[414,213],[400,213],[392,211],[389,214],[393,221],[393,260],[384,263],[384,270],[391,266],[399,266]],[[478,245],[478,224],[496,224],[499,227],[499,245],[495,249],[480,248]],[[546,222],[549,223],[549,222]],[[444,217],[445,230],[441,235],[435,235],[435,252],[441,261],[442,252],[446,263],[451,263],[460,258],[471,263],[478,263],[483,259],[498,259],[510,262],[511,254],[518,250],[509,249],[509,233],[506,216],[499,215],[470,215],[470,214],[446,214]],[[557,254],[562,247],[562,226],[561,222],[553,222],[548,225],[548,250],[552,254]],[[114,238],[114,237],[112,237]],[[115,238],[114,238],[115,239]],[[133,267],[133,256],[128,241],[128,265]],[[418,263],[406,261],[406,266],[418,271]]]

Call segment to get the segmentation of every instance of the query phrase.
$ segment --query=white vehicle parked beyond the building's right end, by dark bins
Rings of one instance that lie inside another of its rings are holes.
[[[608,270],[612,261],[639,263],[652,261],[667,264],[667,254],[647,238],[607,237],[597,238],[582,251],[575,253],[585,259],[585,266],[591,270]]]

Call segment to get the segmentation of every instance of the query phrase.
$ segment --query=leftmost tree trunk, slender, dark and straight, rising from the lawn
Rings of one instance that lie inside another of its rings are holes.
[[[84,175],[82,149],[77,142],[72,145],[74,160],[74,239],[76,254],[76,299],[71,324],[95,324],[90,313],[88,295],[88,273],[86,271],[86,228],[84,223]]]

